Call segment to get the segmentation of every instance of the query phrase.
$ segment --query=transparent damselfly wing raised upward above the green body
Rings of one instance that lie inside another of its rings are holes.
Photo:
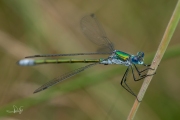
[[[104,29],[94,14],[84,16],[80,24],[82,31],[89,40],[97,45],[108,48],[110,52],[114,51],[112,42],[107,38]]]

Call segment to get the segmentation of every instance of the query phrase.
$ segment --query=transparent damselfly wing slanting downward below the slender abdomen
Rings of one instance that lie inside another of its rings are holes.
[[[45,84],[42,85],[40,88],[36,89],[36,90],[34,91],[34,93],[40,92],[40,91],[42,91],[42,90],[45,90],[45,89],[47,89],[47,88],[49,88],[49,87],[51,87],[51,86],[53,86],[53,85],[55,85],[55,84],[57,84],[57,83],[59,83],[59,82],[62,82],[63,80],[65,80],[65,79],[67,79],[67,78],[69,78],[69,77],[72,77],[72,76],[74,76],[74,75],[76,75],[76,74],[84,71],[84,70],[87,69],[87,68],[90,68],[90,67],[96,65],[96,64],[99,64],[99,63],[89,64],[89,65],[87,65],[87,66],[84,66],[84,67],[78,68],[78,69],[76,69],[76,70],[73,70],[73,71],[71,71],[71,72],[65,73],[65,74],[63,74],[62,76],[60,76],[60,77],[58,77],[58,78],[55,78],[55,79],[53,79],[53,80],[45,83]]]

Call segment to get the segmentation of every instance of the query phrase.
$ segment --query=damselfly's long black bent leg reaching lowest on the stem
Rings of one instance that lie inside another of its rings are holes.
[[[126,69],[126,72],[124,73],[124,75],[123,75],[123,78],[122,78],[122,80],[121,80],[121,86],[124,88],[124,89],[126,89],[129,93],[131,93],[133,96],[135,96],[136,98],[137,98],[137,95],[131,90],[131,88],[127,85],[127,83],[126,83],[126,77],[127,77],[127,74],[128,74],[128,72],[129,72],[129,66],[128,66],[128,68]],[[126,85],[126,87],[123,85],[123,83]]]

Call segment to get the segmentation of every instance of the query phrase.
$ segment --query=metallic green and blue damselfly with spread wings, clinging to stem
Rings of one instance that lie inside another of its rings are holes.
[[[33,55],[33,56],[27,56],[25,59],[22,59],[18,61],[18,64],[20,66],[33,66],[33,65],[39,65],[39,64],[48,64],[48,63],[90,63],[87,66],[75,69],[71,72],[68,72],[66,74],[61,75],[60,77],[57,77],[44,85],[42,85],[40,88],[36,89],[34,93],[40,92],[42,90],[45,90],[59,82],[62,82],[63,80],[72,77],[90,67],[93,67],[98,64],[104,64],[104,65],[124,65],[127,66],[127,69],[122,77],[122,80],[120,82],[121,86],[126,89],[129,93],[134,95],[136,94],[131,90],[131,88],[126,83],[127,74],[129,71],[132,72],[134,81],[139,81],[147,76],[151,76],[154,74],[143,74],[144,71],[147,71],[149,69],[154,70],[150,68],[150,65],[144,64],[144,53],[138,52],[136,55],[132,55],[120,50],[115,50],[112,42],[107,38],[106,33],[104,32],[103,28],[97,21],[94,14],[87,15],[81,19],[80,22],[81,29],[83,33],[87,36],[89,40],[91,40],[93,43],[105,47],[108,49],[108,52],[95,52],[95,53],[73,53],[73,54],[46,54],[46,55]],[[33,59],[36,57],[57,57],[57,56],[77,56],[77,55],[109,55],[107,58],[100,58],[100,59]],[[146,69],[140,71],[136,65],[143,65],[146,67]],[[134,71],[138,73],[138,78],[136,78]]]

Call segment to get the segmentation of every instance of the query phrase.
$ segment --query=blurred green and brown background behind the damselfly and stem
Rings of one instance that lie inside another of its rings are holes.
[[[34,54],[96,52],[98,46],[80,29],[81,18],[95,13],[116,49],[144,51],[150,63],[176,2],[0,0],[0,119],[125,120],[135,100],[119,84],[125,66],[98,65],[33,94],[47,81],[86,64],[22,67],[16,62]],[[178,25],[135,120],[180,119],[179,32]],[[84,57],[98,58],[76,58]],[[143,81],[128,80],[137,93]],[[13,105],[23,106],[23,112],[8,113]]]

